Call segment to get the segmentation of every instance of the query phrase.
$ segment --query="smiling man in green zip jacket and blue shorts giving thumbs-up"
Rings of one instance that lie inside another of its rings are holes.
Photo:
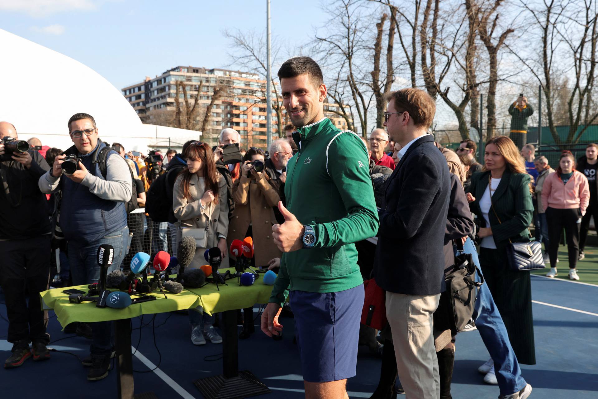
[[[287,165],[288,209],[279,203],[285,222],[272,227],[284,253],[261,329],[280,334],[278,315],[289,295],[306,397],[344,399],[364,303],[353,243],[378,230],[368,154],[358,135],[324,117],[327,89],[314,60],[289,59],[278,77],[300,150]]]

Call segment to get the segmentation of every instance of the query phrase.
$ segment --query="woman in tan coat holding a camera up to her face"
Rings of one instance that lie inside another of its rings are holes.
[[[273,206],[280,196],[270,184],[266,172],[256,172],[252,162],[264,162],[264,151],[250,148],[241,165],[241,176],[233,185],[234,211],[228,227],[228,245],[233,240],[251,236],[254,240],[255,266],[267,266],[281,253],[272,240],[272,226],[276,224]],[[249,338],[255,330],[253,307],[243,309],[243,331],[240,339]]]

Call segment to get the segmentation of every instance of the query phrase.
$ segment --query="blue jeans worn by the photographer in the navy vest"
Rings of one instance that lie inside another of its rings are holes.
[[[97,264],[97,247],[109,244],[114,247],[114,259],[108,267],[108,272],[117,270],[123,262],[124,255],[129,249],[129,227],[106,234],[106,236],[86,245],[69,242],[69,261],[73,285],[84,285],[97,282],[100,278],[100,267]],[[90,323],[91,346],[93,356],[106,357],[110,355],[114,346],[114,331],[111,321]]]

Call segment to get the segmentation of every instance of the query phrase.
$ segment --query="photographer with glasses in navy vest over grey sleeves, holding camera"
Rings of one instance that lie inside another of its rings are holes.
[[[89,114],[75,114],[68,122],[69,136],[75,144],[59,155],[54,165],[39,178],[39,190],[50,194],[62,191],[59,224],[68,242],[68,257],[74,285],[97,282],[100,267],[98,246],[114,247],[108,272],[122,263],[129,246],[129,228],[124,203],[132,194],[129,166],[116,151],[105,157],[105,176],[98,159],[106,144],[98,138],[96,121]],[[100,156],[101,157],[101,156]],[[111,322],[91,323],[91,355],[83,359],[91,366],[87,379],[108,375],[113,337]]]

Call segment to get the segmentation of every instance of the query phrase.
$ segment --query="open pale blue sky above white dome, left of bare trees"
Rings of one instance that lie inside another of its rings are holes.
[[[272,35],[292,47],[306,43],[329,19],[320,4],[271,0]],[[0,0],[0,28],[86,64],[121,89],[177,65],[227,66],[222,30],[265,32],[266,0]]]

